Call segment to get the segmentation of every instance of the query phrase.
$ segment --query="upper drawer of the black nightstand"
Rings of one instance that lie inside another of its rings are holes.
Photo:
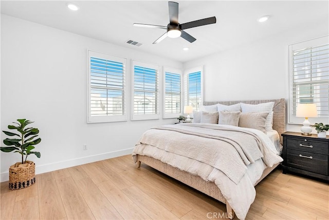
[[[287,149],[301,150],[313,153],[328,153],[327,142],[313,141],[305,138],[287,138]]]

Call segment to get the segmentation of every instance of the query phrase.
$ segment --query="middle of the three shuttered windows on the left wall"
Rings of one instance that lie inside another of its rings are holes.
[[[159,118],[159,66],[133,61],[132,120]]]

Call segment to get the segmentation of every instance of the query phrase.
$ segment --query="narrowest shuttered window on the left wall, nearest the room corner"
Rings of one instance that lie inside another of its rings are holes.
[[[163,78],[163,118],[177,118],[182,114],[182,72],[164,67]]]

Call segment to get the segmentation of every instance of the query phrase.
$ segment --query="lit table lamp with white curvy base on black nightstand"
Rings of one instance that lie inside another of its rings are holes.
[[[303,122],[303,126],[301,127],[302,135],[311,135],[312,127],[310,127],[310,123],[308,121],[309,118],[316,118],[318,117],[318,110],[317,106],[314,103],[305,103],[305,104],[298,104],[296,117],[305,117],[305,121]]]

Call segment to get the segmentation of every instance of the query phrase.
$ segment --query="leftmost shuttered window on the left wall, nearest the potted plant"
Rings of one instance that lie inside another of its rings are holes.
[[[126,121],[126,59],[88,50],[88,123]]]

